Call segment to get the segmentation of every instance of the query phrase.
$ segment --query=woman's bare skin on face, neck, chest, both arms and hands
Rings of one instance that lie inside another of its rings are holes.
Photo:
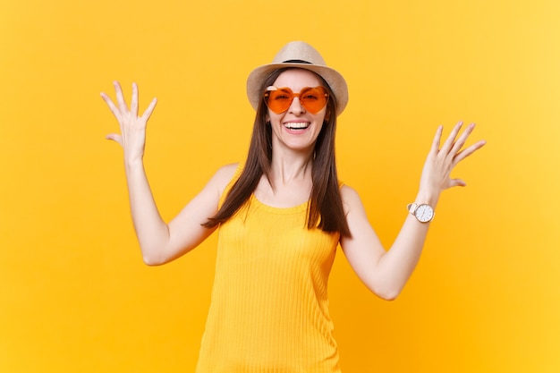
[[[303,87],[320,85],[318,77],[305,70],[288,70],[275,81],[276,87],[288,87],[299,92]],[[123,147],[124,166],[131,203],[132,221],[140,242],[144,262],[150,266],[165,264],[177,259],[203,242],[216,228],[201,226],[208,216],[217,211],[220,195],[233,177],[237,165],[225,165],[208,181],[207,185],[166,224],[159,215],[149,189],[144,171],[143,156],[146,125],[156,107],[156,99],[139,114],[139,93],[132,85],[132,101],[127,106],[121,86],[115,82],[116,102],[105,93],[101,97],[120,124],[120,133],[106,136]],[[310,114],[301,106],[298,97],[283,114],[268,111],[267,120],[272,127],[272,165],[270,182],[263,177],[255,190],[261,202],[278,208],[288,208],[305,203],[310,197],[312,155],[315,141],[327,117],[327,108]],[[286,123],[303,122],[305,130],[289,130]],[[463,148],[474,129],[470,124],[462,130],[457,123],[442,143],[443,127],[438,127],[420,177],[417,203],[428,203],[436,208],[442,191],[455,186],[465,186],[461,179],[452,179],[451,172],[464,158],[469,157],[486,141],[480,140]],[[403,290],[404,284],[416,267],[429,223],[420,223],[408,215],[403,227],[390,248],[384,248],[374,229],[369,225],[360,196],[351,187],[341,188],[344,210],[352,238],[342,237],[340,244],[354,272],[361,281],[379,297],[393,300]]]

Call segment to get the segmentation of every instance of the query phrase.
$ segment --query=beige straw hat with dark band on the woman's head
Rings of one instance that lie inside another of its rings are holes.
[[[297,67],[320,75],[333,91],[336,98],[336,114],[341,114],[348,103],[348,87],[344,77],[325,64],[325,60],[318,51],[303,41],[293,41],[286,44],[276,54],[272,64],[259,66],[249,74],[247,79],[247,96],[250,105],[255,110],[259,106],[263,92],[260,91],[262,81],[277,69]]]

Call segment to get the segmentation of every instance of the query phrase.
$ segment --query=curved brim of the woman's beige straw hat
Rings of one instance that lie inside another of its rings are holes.
[[[247,97],[249,97],[250,105],[255,110],[259,107],[259,102],[262,99],[263,92],[261,92],[262,81],[267,79],[270,73],[278,69],[285,68],[299,68],[315,72],[325,81],[329,88],[333,91],[336,100],[336,115],[340,115],[346,104],[348,104],[348,86],[344,77],[335,69],[318,64],[298,64],[298,63],[283,63],[283,64],[265,64],[259,66],[249,74],[247,78]]]

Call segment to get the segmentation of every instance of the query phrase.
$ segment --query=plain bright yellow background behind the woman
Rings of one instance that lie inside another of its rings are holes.
[[[0,4],[0,371],[191,372],[216,237],[145,267],[113,80],[159,100],[146,166],[165,219],[245,157],[250,70],[303,39],[342,72],[341,178],[389,245],[438,124],[488,146],[454,176],[401,297],[339,253],[330,281],[352,372],[560,369],[560,3],[556,0]]]

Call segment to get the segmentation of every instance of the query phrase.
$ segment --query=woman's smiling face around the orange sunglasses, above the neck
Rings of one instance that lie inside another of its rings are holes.
[[[305,87],[323,85],[318,76],[308,70],[292,69],[282,72],[273,84],[276,88],[289,88],[299,93]],[[268,109],[267,121],[272,127],[273,152],[290,149],[312,153],[315,141],[323,127],[327,106],[312,114],[301,106],[299,97],[293,97],[292,105],[282,114]]]

